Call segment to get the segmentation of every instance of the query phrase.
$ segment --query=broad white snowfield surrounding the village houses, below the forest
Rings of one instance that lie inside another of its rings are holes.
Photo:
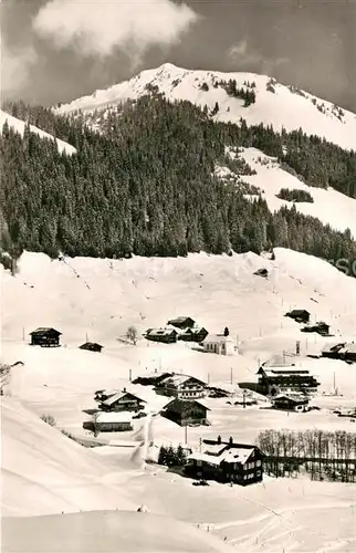
[[[253,274],[260,268],[268,279]],[[11,371],[1,398],[4,552],[355,551],[355,484],[265,477],[247,488],[196,488],[145,462],[157,459],[161,444],[184,445],[186,438],[196,449],[200,438],[219,434],[253,442],[266,428],[355,431],[349,418],[333,414],[355,407],[355,365],[307,357],[326,343],[355,338],[355,279],[280,248],[275,260],[247,253],[51,261],[24,252],[15,276],[1,271],[1,361],[23,362]],[[294,307],[328,321],[335,337],[301,333],[283,316]],[[176,315],[189,315],[211,333],[228,326],[234,355],[140,337]],[[130,324],[138,330],[136,346],[124,338]],[[28,345],[38,326],[60,330],[62,347]],[[80,349],[86,340],[104,345],[103,352]],[[265,400],[243,409],[227,398],[205,398],[211,426],[186,432],[159,415],[169,398],[130,382],[161,368],[235,389],[237,398],[238,383],[256,382],[266,359],[291,361],[315,374],[321,386],[313,404],[321,410],[287,415]],[[96,408],[95,390],[124,387],[147,401],[148,416],[134,419],[129,432],[94,438],[83,422]],[[332,395],[335,387],[338,395]],[[61,430],[97,447],[83,447]],[[148,512],[136,512],[139,505]]]

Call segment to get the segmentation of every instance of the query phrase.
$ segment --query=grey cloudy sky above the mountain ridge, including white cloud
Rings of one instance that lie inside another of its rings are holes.
[[[2,97],[67,102],[171,62],[356,112],[356,0],[2,0]]]

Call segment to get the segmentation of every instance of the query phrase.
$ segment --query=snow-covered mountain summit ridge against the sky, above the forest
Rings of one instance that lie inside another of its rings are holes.
[[[237,87],[255,93],[255,103],[244,107],[243,100],[231,97],[219,84],[230,79]],[[254,83],[253,86],[251,86]],[[265,75],[254,73],[221,73],[216,71],[189,71],[170,63],[143,71],[129,81],[107,90],[63,104],[57,113],[73,113],[77,109],[93,112],[115,106],[127,98],[148,94],[148,87],[157,87],[169,101],[188,100],[199,106],[219,112],[216,121],[239,123],[243,117],[248,125],[272,125],[276,131],[300,127],[308,135],[325,137],[346,149],[356,149],[356,115],[334,104],[293,86],[276,83]]]

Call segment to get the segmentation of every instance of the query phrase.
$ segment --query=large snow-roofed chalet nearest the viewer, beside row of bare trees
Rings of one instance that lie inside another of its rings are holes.
[[[185,473],[192,478],[233,482],[248,486],[263,479],[263,458],[260,448],[247,444],[203,440],[202,451],[191,453]]]

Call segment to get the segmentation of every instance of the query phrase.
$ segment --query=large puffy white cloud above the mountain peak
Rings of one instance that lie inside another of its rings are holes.
[[[197,19],[188,6],[170,0],[50,0],[33,29],[57,49],[106,56],[119,46],[137,63],[150,45],[179,42]]]

